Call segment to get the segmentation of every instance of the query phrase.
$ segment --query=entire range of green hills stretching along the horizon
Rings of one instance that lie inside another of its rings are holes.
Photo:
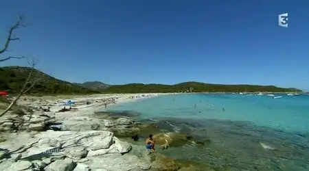
[[[95,94],[95,93],[144,93],[144,92],[301,92],[295,88],[277,88],[275,86],[222,85],[199,82],[185,82],[175,85],[130,83],[126,85],[106,85],[99,81],[69,83],[51,77],[29,67],[0,67],[0,91],[18,93],[30,70],[34,70],[39,82],[30,90],[30,94]]]

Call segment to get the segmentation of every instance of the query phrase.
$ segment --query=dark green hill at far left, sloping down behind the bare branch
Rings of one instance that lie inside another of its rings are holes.
[[[29,91],[28,94],[94,94],[100,93],[95,90],[90,90],[82,86],[76,86],[73,83],[62,81],[51,77],[39,70],[21,67],[21,66],[5,66],[0,67],[0,91],[7,90],[10,93],[18,93],[25,80],[27,79],[30,70],[34,70],[33,78],[38,80],[38,83]]]

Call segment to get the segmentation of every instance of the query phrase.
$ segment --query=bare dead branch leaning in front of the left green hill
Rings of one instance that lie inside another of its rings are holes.
[[[10,105],[0,114],[0,117],[3,116],[4,114],[6,114],[14,105],[15,103],[19,100],[19,98],[21,98],[21,96],[25,93],[27,93],[31,88],[33,88],[33,86],[36,85],[36,83],[38,83],[38,81],[40,80],[40,77],[34,77],[34,68],[36,66],[36,63],[38,62],[37,60],[33,59],[32,62],[28,63],[31,66],[30,69],[30,73],[27,76],[27,79],[25,80],[25,83],[23,84],[23,88],[21,88],[21,91],[19,92],[19,94],[16,96],[16,98],[14,98],[14,100],[10,103]],[[28,88],[27,86],[30,85]]]

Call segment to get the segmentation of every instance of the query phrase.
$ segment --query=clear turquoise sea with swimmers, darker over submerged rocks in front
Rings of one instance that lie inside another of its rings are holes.
[[[273,96],[280,96],[273,98]],[[107,111],[209,139],[162,153],[216,170],[309,170],[309,96],[172,94],[119,103]]]

